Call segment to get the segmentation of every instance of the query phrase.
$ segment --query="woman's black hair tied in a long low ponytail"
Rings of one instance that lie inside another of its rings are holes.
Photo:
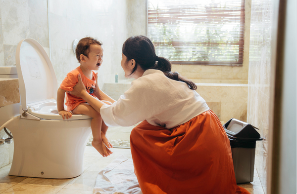
[[[145,71],[148,69],[160,70],[167,78],[183,81],[189,85],[190,89],[197,89],[197,85],[193,81],[180,76],[177,72],[171,72],[170,61],[156,55],[154,45],[146,36],[128,38],[123,44],[122,52],[127,57],[127,61],[134,59],[136,62],[130,75],[137,70],[138,66]]]

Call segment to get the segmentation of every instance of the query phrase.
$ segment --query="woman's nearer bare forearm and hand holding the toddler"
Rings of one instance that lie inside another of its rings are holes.
[[[78,75],[78,83],[73,87],[73,91],[68,91],[68,92],[74,96],[80,97],[80,98],[84,99],[85,101],[87,101],[93,107],[93,109],[95,109],[98,113],[100,113],[100,108],[103,105],[106,105],[102,101],[100,101],[97,98],[94,98],[93,96],[88,94],[80,74]],[[112,98],[110,98],[110,99],[112,99]]]

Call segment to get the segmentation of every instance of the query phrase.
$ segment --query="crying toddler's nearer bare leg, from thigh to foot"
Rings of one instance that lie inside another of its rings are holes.
[[[101,118],[100,114],[87,103],[81,103],[72,111],[72,113],[75,115],[84,114],[84,115],[93,117],[93,119],[91,121],[91,128],[92,128],[92,133],[93,133],[92,146],[103,157],[112,154],[112,152],[108,148],[105,147],[105,145],[103,144],[102,139],[101,139],[102,118]]]

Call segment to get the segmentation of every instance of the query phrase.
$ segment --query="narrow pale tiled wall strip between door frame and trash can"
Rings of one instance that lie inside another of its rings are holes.
[[[257,142],[255,165],[266,191],[268,113],[271,71],[272,0],[251,3],[248,67],[247,122],[258,127],[263,141]]]

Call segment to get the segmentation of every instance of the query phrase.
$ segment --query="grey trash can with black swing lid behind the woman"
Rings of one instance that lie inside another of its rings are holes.
[[[231,118],[224,124],[230,140],[236,183],[253,182],[256,141],[261,141],[256,127]]]

